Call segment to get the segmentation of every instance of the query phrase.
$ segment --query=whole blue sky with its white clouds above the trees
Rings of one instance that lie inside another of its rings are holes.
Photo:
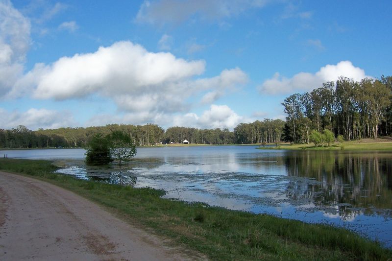
[[[0,0],[0,128],[233,129],[391,75],[391,1]]]

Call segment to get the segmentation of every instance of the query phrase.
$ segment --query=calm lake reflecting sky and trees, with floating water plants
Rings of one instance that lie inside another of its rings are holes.
[[[138,148],[120,169],[88,167],[84,149],[0,151],[49,159],[59,172],[153,187],[165,197],[345,227],[392,248],[392,152],[258,150],[256,146]]]

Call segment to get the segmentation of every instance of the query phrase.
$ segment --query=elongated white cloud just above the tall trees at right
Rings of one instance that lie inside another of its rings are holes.
[[[370,77],[350,61],[341,61],[336,65],[321,67],[316,73],[299,72],[292,78],[286,78],[276,72],[271,79],[264,81],[258,89],[263,94],[290,94],[301,91],[310,91],[319,88],[323,82],[336,81],[338,77],[345,76],[355,81]]]

